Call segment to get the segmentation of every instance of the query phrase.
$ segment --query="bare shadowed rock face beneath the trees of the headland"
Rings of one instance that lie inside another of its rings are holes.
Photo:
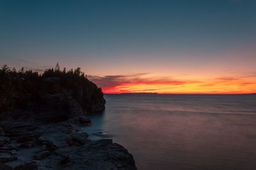
[[[26,96],[24,100],[27,100],[26,108],[15,108],[8,113],[8,116],[36,122],[58,123],[70,118],[77,118],[86,112],[102,111],[106,103],[103,97],[95,101],[88,99],[84,103],[79,103],[72,97],[72,93],[67,91],[46,94],[40,99],[40,102],[33,101],[29,96]],[[86,122],[86,120],[80,121]]]

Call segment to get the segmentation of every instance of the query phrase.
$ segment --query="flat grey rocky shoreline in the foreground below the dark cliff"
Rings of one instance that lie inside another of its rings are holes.
[[[137,169],[127,150],[112,139],[92,141],[81,131],[84,115],[43,124],[6,118],[0,122],[0,169]]]

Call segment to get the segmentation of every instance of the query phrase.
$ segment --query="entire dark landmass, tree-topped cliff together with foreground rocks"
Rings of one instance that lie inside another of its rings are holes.
[[[79,68],[39,75],[4,66],[0,94],[0,169],[137,169],[123,146],[88,139],[86,113],[106,101]]]

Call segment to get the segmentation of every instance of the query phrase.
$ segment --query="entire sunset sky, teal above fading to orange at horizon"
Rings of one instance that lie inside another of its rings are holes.
[[[255,93],[256,1],[0,0],[0,64],[56,62],[105,93]]]

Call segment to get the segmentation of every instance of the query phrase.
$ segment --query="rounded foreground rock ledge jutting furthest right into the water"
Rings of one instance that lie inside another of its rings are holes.
[[[137,169],[132,155],[112,139],[91,141],[77,152],[70,153],[70,161],[61,169]]]

